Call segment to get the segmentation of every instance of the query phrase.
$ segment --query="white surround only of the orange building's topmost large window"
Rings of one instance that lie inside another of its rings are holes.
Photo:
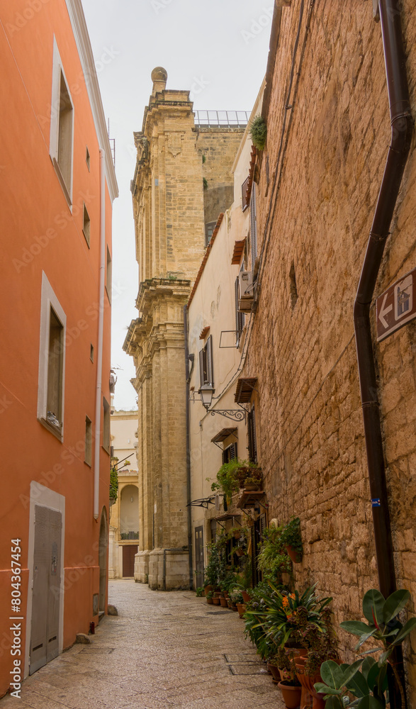
[[[66,184],[66,182],[64,181],[64,177],[62,176],[62,172],[58,164],[61,74],[67,86],[67,93],[72,106],[71,179],[69,181],[70,184]],[[72,101],[71,92],[69,91],[69,84],[67,82],[67,77],[65,76],[64,67],[62,65],[60,52],[57,48],[55,35],[53,38],[52,99],[50,105],[50,159],[52,160],[53,166],[55,167],[55,172],[57,174],[57,178],[60,181],[64,196],[67,199],[69,209],[70,211],[72,211],[72,181],[74,179],[74,103]]]

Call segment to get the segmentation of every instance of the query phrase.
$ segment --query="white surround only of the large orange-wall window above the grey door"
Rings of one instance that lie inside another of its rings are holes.
[[[62,333],[62,415],[61,428],[58,431],[47,422],[47,365],[49,355],[50,310],[55,311],[63,328]],[[45,272],[42,272],[42,296],[40,299],[40,337],[39,337],[39,374],[38,374],[38,421],[52,432],[58,440],[64,440],[64,392],[65,392],[65,353],[66,353],[67,316],[58,301]]]

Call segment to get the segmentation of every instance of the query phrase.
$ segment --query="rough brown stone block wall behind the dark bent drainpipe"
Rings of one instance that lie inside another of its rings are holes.
[[[333,596],[339,622],[361,617],[362,596],[378,586],[353,303],[390,120],[381,27],[371,1],[313,4],[302,55],[308,8],[291,108],[300,0],[282,9],[257,191],[259,300],[244,375],[259,377],[257,436],[269,518],[300,517],[305,556],[294,570],[296,584],[317,583]],[[415,115],[416,13],[411,0],[400,8]],[[415,182],[413,140],[376,296],[416,266]],[[374,342],[374,305],[371,319]],[[398,587],[415,601],[416,323],[373,349]],[[354,638],[340,631],[339,642],[351,661]],[[415,635],[405,653],[415,708]]]

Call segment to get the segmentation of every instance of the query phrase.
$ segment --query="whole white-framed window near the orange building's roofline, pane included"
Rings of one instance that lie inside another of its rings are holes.
[[[74,152],[74,105],[65,78],[60,52],[54,38],[52,68],[52,111],[50,157],[69,206],[72,204],[72,163]]]

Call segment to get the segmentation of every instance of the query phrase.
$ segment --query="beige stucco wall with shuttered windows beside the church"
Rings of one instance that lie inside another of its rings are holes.
[[[262,86],[252,117],[261,110],[264,86]],[[198,394],[200,387],[199,352],[206,345],[208,337],[213,342],[213,372],[215,393],[211,410],[237,410],[234,401],[238,369],[244,362],[244,335],[249,321],[246,317],[239,347],[235,347],[235,279],[240,271],[239,264],[231,264],[235,242],[249,235],[250,210],[242,211],[242,183],[249,174],[252,142],[249,128],[245,130],[238,146],[232,165],[234,200],[225,212],[223,221],[212,243],[208,260],[201,273],[198,286],[189,303],[189,352],[194,355],[194,367],[190,388],[189,438],[191,456],[191,499],[206,499],[213,495],[211,484],[222,464],[220,448],[226,448],[237,442],[237,455],[240,459],[248,458],[247,425],[244,421],[235,421],[223,415],[206,412]],[[203,328],[209,331],[203,340],[200,334]],[[220,347],[220,344],[223,347]],[[223,428],[236,428],[218,447],[211,439]],[[208,509],[192,506],[193,568],[195,569],[195,528],[203,526],[204,561],[207,561],[206,545],[210,542],[210,520],[223,513],[222,498],[219,508],[208,505]],[[242,515],[242,513],[240,513]]]

